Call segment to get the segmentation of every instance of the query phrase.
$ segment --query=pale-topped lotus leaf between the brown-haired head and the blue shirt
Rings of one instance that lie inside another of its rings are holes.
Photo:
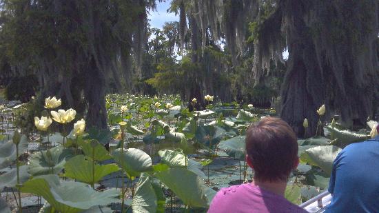
[[[316,146],[305,150],[300,159],[309,165],[318,166],[330,175],[333,161],[340,151],[341,149],[334,145]]]

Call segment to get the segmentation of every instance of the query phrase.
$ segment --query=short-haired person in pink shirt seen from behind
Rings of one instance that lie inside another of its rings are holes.
[[[285,187],[299,163],[294,130],[282,119],[265,117],[246,132],[246,161],[254,170],[252,183],[217,192],[208,213],[307,212],[285,199]]]

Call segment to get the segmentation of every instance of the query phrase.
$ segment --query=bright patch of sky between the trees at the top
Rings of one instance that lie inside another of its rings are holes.
[[[174,13],[167,13],[167,9],[170,8],[171,0],[165,2],[156,1],[156,11],[150,11],[150,14],[147,16],[150,19],[150,25],[152,28],[160,28],[165,22],[168,21],[179,21],[179,17],[175,16]]]

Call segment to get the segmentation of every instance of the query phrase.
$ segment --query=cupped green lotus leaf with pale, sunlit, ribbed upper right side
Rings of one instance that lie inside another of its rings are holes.
[[[112,156],[129,177],[152,170],[152,158],[142,150],[129,148],[122,151],[119,148],[112,152]]]

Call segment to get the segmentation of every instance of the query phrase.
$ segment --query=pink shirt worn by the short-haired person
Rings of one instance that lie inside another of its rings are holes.
[[[268,192],[251,183],[233,185],[217,192],[208,213],[221,212],[307,212],[283,196]]]

